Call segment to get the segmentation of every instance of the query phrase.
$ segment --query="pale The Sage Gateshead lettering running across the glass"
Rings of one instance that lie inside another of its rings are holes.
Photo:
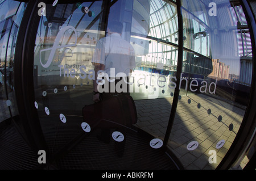
[[[71,77],[71,78],[75,78],[76,77],[76,70],[75,69],[71,69],[69,70],[68,68],[66,68],[65,65],[59,65],[59,68],[60,68],[60,77],[63,75],[64,77]],[[62,68],[63,71],[62,71]],[[88,71],[88,75],[87,73],[85,72],[86,70],[86,66],[85,65],[81,65],[80,66],[80,74],[79,74],[79,77],[81,79],[85,79],[87,76],[88,76],[88,79],[90,80],[95,80],[96,78],[96,73],[94,70],[89,70]],[[127,90],[127,85],[134,85],[135,84],[135,76],[136,74],[134,73],[129,73],[129,82],[126,81],[126,77],[127,75],[125,73],[117,73],[115,74],[115,69],[114,68],[111,68],[110,69],[110,77],[115,77],[116,79],[118,78],[121,78],[123,77],[124,78],[124,81],[122,83],[119,83],[117,85],[115,85],[116,87],[114,87],[114,89],[111,89],[113,90],[113,92],[117,91],[117,92],[121,92],[121,91],[125,91]],[[170,77],[169,79],[167,79],[166,76],[164,75],[159,75],[158,73],[150,73],[149,75],[149,81],[146,80],[148,79],[146,75],[142,76],[143,75],[142,73],[139,74],[139,79],[138,81],[136,82],[138,86],[141,86],[141,85],[146,85],[146,82],[149,82],[149,87],[154,87],[154,83],[156,83],[156,85],[158,85],[157,87],[160,87],[160,88],[163,88],[166,86],[166,83],[168,82],[168,87],[169,89],[175,89],[177,84],[176,84],[176,81],[177,81],[177,78],[176,77]],[[158,76],[155,76],[155,75],[158,75]],[[102,86],[102,85],[105,85],[104,88],[102,87],[99,87],[99,92],[108,92],[109,89],[108,89],[108,83],[105,84],[106,81],[108,82],[113,82],[114,79],[110,78],[108,74],[105,73],[104,70],[99,70],[97,72],[97,83],[98,83],[98,86]],[[152,81],[152,77],[155,77],[154,81]],[[154,83],[153,83],[154,82]],[[217,79],[215,80],[215,82],[211,82],[209,83],[209,87],[208,87],[208,82],[207,81],[201,81],[201,83],[199,83],[199,81],[197,81],[197,79],[192,79],[191,82],[189,83],[188,79],[187,78],[184,78],[182,77],[182,73],[180,75],[180,83],[179,83],[179,89],[181,89],[181,83],[185,82],[185,90],[188,89],[189,87],[189,90],[191,90],[192,92],[195,92],[197,90],[199,90],[201,93],[204,93],[204,92],[208,92],[210,94],[215,94],[215,91],[216,91],[216,85],[217,85]],[[201,84],[201,85],[200,85]],[[121,88],[122,87],[122,88]],[[111,91],[110,90],[110,91]],[[112,92],[112,91],[111,91]],[[135,91],[137,92],[137,91]],[[139,90],[138,90],[139,92]]]

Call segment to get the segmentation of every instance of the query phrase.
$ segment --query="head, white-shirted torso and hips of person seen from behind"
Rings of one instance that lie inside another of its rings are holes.
[[[129,81],[129,73],[135,68],[135,52],[130,42],[122,39],[123,25],[121,22],[110,22],[108,26],[108,36],[103,37],[97,42],[96,49],[93,54],[92,64],[94,65],[94,71],[98,75],[98,71],[104,71],[106,75],[117,84],[118,81]],[[113,72],[114,70],[114,72]],[[119,77],[119,76],[122,77]],[[126,75],[126,77],[124,77]],[[108,79],[108,80],[109,80]],[[107,83],[107,82],[105,82]],[[110,88],[110,81],[109,88]],[[119,92],[120,93],[120,92]],[[126,91],[123,93],[129,93],[129,86],[127,85]],[[109,98],[117,94],[117,90],[102,92],[100,94],[98,90],[97,79],[93,82],[93,101],[100,102],[101,99]]]

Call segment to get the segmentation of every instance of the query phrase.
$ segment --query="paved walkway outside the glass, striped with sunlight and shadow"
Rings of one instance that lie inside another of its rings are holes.
[[[136,126],[164,140],[172,97],[135,100],[135,104]],[[236,137],[244,113],[241,108],[207,95],[181,96],[168,147],[185,169],[216,169]],[[217,149],[220,140],[225,140],[225,144]],[[197,141],[199,146],[189,151],[187,145],[191,141]],[[210,150],[217,153],[216,163],[209,163]]]

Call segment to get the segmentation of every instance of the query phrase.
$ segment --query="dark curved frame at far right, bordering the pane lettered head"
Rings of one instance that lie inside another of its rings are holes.
[[[225,157],[222,159],[221,163],[218,165],[217,169],[229,169],[237,159],[243,156],[244,151],[248,148],[248,145],[251,142],[251,137],[255,137],[254,131],[256,129],[256,112],[251,111],[251,108],[256,107],[256,24],[253,12],[251,12],[250,6],[246,0],[241,1],[241,5],[245,10],[245,16],[247,19],[250,37],[251,37],[251,46],[253,49],[253,73],[252,73],[252,81],[251,81],[251,92],[249,104],[247,105],[247,109],[245,112],[245,116],[243,116],[243,121],[240,126],[240,129],[237,133],[236,138],[234,139],[232,145],[230,146],[228,153],[226,153]],[[255,154],[255,153],[254,153]],[[254,163],[255,164],[255,163]],[[255,165],[254,165],[255,169]]]

